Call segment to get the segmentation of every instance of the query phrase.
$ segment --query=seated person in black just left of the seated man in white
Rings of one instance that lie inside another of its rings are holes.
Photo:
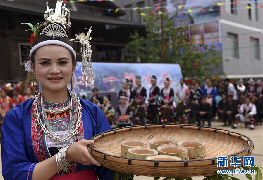
[[[233,100],[232,95],[227,96],[226,102],[226,122],[228,121],[228,125],[231,125],[234,121],[235,115],[237,114],[237,103]]]

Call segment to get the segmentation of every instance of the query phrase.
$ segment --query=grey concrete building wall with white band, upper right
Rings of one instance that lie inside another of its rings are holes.
[[[263,77],[263,10],[259,8],[263,1],[258,1],[258,20],[249,19],[247,3],[238,1],[237,14],[228,10],[221,11],[221,36],[223,49],[223,70],[228,77]],[[229,3],[229,1],[223,1]],[[221,8],[227,9],[223,5]],[[227,33],[238,35],[239,58],[230,57],[229,40]],[[252,58],[250,37],[259,39],[260,59]],[[229,59],[229,62],[225,61]]]

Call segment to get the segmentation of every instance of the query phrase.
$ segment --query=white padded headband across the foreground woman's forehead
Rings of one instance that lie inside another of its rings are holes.
[[[30,53],[29,53],[30,59],[31,59],[32,54],[39,47],[42,47],[42,46],[45,46],[45,45],[53,45],[53,44],[66,47],[68,50],[70,50],[70,52],[73,54],[74,58],[76,59],[76,52],[74,51],[74,49],[70,45],[68,45],[67,43],[64,43],[64,42],[62,42],[60,40],[46,40],[46,41],[40,42],[37,45],[33,46],[32,49],[30,50]]]

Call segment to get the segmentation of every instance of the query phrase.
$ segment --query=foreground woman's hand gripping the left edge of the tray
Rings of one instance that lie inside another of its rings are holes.
[[[66,154],[67,161],[69,163],[77,162],[83,165],[93,164],[96,166],[101,166],[101,164],[98,163],[88,151],[87,145],[89,144],[94,148],[96,147],[93,140],[85,139],[82,139],[79,142],[76,142],[75,144],[72,144],[70,147],[68,147]]]

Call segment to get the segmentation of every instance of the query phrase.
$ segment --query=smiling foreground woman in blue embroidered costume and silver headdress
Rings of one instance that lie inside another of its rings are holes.
[[[57,1],[55,13],[47,5],[48,23],[32,28],[37,33],[36,44],[25,69],[32,71],[42,91],[18,104],[4,118],[4,179],[113,179],[112,170],[102,167],[87,149],[89,144],[95,147],[88,139],[111,129],[104,113],[67,89],[68,82],[71,89],[74,84],[76,52],[67,39],[64,26],[70,26],[70,22],[64,21],[69,12],[62,3]],[[90,33],[91,29],[87,36],[82,33],[75,40],[82,44],[84,85],[94,84]],[[84,41],[79,40],[82,38]]]

